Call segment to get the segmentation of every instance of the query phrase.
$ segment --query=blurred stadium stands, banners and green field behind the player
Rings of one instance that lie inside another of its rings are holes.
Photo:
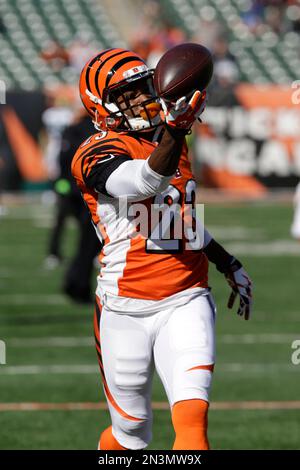
[[[78,236],[72,219],[64,260],[45,262],[54,188],[65,191],[57,185],[61,136],[82,113],[77,81],[94,52],[133,48],[155,67],[186,41],[206,45],[215,61],[204,123],[189,142],[198,202],[255,284],[254,316],[243,322],[227,311],[227,288],[210,270],[219,311],[211,445],[299,449],[300,365],[291,356],[300,339],[300,245],[290,234],[299,32],[297,0],[0,0],[1,449],[93,449],[109,421],[92,305],[62,293]],[[151,448],[170,448],[157,379],[153,401]]]

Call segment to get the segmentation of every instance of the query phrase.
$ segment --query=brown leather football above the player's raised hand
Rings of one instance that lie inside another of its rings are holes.
[[[176,100],[194,90],[204,90],[213,74],[212,55],[201,44],[185,43],[169,49],[154,72],[158,96]]]

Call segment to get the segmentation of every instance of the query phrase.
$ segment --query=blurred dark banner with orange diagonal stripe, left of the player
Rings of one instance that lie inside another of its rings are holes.
[[[0,106],[0,192],[45,187],[49,181],[43,113],[48,108],[77,110],[77,88],[57,85],[49,90],[10,91]],[[72,111],[71,111],[72,110]],[[54,121],[52,115],[52,121]],[[61,121],[57,117],[57,127]],[[53,127],[53,126],[52,126]]]

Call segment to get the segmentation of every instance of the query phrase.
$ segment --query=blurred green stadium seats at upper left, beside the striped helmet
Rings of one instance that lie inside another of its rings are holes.
[[[0,0],[0,79],[8,89],[72,83],[72,68],[56,70],[41,57],[53,41],[81,38],[95,49],[124,45],[98,0]]]

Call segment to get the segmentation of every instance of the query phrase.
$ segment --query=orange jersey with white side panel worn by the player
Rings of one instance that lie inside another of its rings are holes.
[[[119,201],[104,187],[99,191],[99,181],[96,184],[96,175],[100,174],[101,179],[101,169],[105,174],[113,156],[117,155],[119,161],[145,160],[156,146],[129,133],[100,132],[83,142],[73,158],[72,174],[104,243],[100,254],[101,288],[114,295],[160,300],[189,288],[208,287],[208,260],[202,250],[185,249],[180,240],[157,242],[151,238],[151,230],[131,236],[129,217],[120,215]],[[171,199],[168,204],[184,204],[194,199],[194,193],[195,182],[184,146],[176,175],[163,195],[165,200]],[[150,211],[158,197],[137,204],[142,203]]]

